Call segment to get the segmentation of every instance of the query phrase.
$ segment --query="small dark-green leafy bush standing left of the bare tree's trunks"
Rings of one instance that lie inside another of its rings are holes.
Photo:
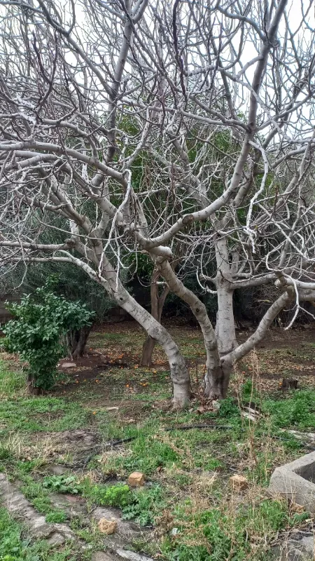
[[[29,363],[28,379],[32,387],[50,389],[57,379],[57,362],[62,357],[61,337],[70,330],[90,325],[93,312],[80,302],[68,302],[51,291],[51,282],[37,288],[20,303],[7,304],[16,319],[3,327],[4,346],[20,353]]]

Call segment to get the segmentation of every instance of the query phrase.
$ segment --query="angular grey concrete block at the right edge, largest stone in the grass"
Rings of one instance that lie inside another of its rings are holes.
[[[315,452],[276,468],[270,479],[269,493],[283,496],[315,513]]]

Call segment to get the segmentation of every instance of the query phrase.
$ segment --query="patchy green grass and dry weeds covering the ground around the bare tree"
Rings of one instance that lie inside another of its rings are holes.
[[[197,384],[196,374],[202,378],[203,366],[196,360],[204,356],[200,334],[174,329],[183,354],[191,360],[190,374]],[[80,539],[90,543],[86,558],[103,548],[104,536],[87,520],[90,509],[99,505],[120,508],[123,518],[154,527],[154,539],[144,537],[130,544],[139,553],[158,554],[165,561],[267,560],[269,544],[279,532],[303,527],[309,519],[309,513],[295,512],[286,501],[270,499],[266,486],[276,465],[305,453],[303,442],[283,429],[314,431],[315,390],[305,387],[282,394],[276,381],[271,391],[264,391],[265,381],[258,370],[269,372],[278,364],[281,372],[294,372],[303,361],[307,366],[314,360],[314,344],[305,342],[301,351],[283,344],[261,349],[258,356],[243,361],[219,412],[202,409],[196,402],[190,410],[174,413],[167,407],[172,388],[165,358],[157,349],[155,367],[139,367],[141,342],[138,329],[92,333],[91,346],[101,349],[113,365],[99,371],[95,379],[84,381],[81,376],[75,387],[69,375],[68,383],[41,397],[25,393],[18,363],[3,354],[0,471],[19,482],[48,523],[67,522]],[[130,367],[114,363],[124,352],[130,353]],[[256,424],[241,417],[239,403],[248,402],[262,412]],[[118,409],[109,411],[109,405]],[[179,429],[209,423],[216,428]],[[63,475],[48,474],[48,464],[71,464],[76,454],[76,450],[59,450],[50,436],[76,428],[97,432],[101,444],[132,440],[112,448],[101,445],[79,472],[69,468]],[[146,487],[126,485],[132,471],[146,475]],[[244,492],[230,487],[233,473],[248,479]],[[87,513],[69,518],[66,508],[55,506],[56,493],[83,497]],[[69,561],[78,555],[75,544],[49,548],[45,541],[31,540],[27,530],[1,509],[0,561],[45,561],[48,557]]]

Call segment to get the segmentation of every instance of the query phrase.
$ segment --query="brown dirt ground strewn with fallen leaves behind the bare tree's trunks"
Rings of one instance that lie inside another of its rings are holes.
[[[186,358],[193,389],[198,392],[205,362],[202,333],[199,328],[187,325],[172,323],[167,327]],[[250,330],[238,331],[237,339],[240,343],[244,342],[250,334]],[[153,366],[139,366],[144,336],[141,327],[131,321],[98,327],[90,334],[87,356],[76,360],[76,367],[63,368],[64,363],[69,363],[69,358],[60,361],[59,370],[64,373],[64,379],[55,388],[54,395],[76,393],[79,388],[84,392],[86,388],[88,398],[92,387],[94,390],[98,388],[102,394],[101,398],[94,395],[93,399],[104,405],[115,405],[122,398],[126,401],[130,394],[145,398],[148,391],[160,402],[169,398],[172,386],[164,351],[156,346]],[[307,330],[302,327],[289,331],[279,328],[269,330],[257,349],[237,364],[232,391],[235,384],[248,377],[255,377],[260,390],[268,393],[280,391],[279,382],[283,377],[297,379],[299,388],[314,387],[315,327]],[[158,395],[161,387],[165,389],[162,396]]]

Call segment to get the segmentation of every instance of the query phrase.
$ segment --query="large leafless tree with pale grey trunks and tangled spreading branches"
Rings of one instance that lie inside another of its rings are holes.
[[[83,269],[165,349],[176,406],[188,370],[120,282],[131,254],[195,314],[211,398],[285,306],[315,297],[313,2],[294,18],[286,4],[0,0],[3,270]],[[215,285],[216,332],[174,272],[178,244]],[[233,291],[269,282],[279,297],[238,345]]]

